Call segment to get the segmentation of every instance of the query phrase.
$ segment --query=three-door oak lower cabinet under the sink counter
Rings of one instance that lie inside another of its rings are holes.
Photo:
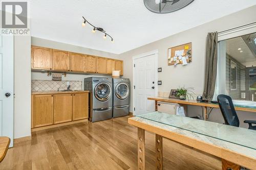
[[[89,93],[33,94],[31,128],[88,119]]]

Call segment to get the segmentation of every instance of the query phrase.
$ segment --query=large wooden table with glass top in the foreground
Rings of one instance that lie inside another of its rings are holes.
[[[151,113],[148,113],[151,114]],[[147,115],[148,115],[147,114]],[[146,114],[145,114],[146,115]],[[189,131],[174,126],[167,125],[166,123],[156,122],[154,120],[144,118],[144,117],[131,117],[128,119],[128,123],[138,127],[138,169],[143,170],[145,168],[145,136],[144,130],[153,132],[156,134],[156,169],[163,168],[163,149],[162,149],[162,137],[167,139],[185,144],[189,147],[198,149],[205,153],[217,156],[222,159],[222,170],[232,168],[233,170],[240,170],[240,166],[256,169],[256,146],[251,143],[251,140],[254,140],[256,132],[244,128],[231,127],[227,125],[217,124],[206,122],[202,120],[197,120],[189,117],[174,117],[176,115],[170,115],[161,112],[153,112],[152,115],[160,116],[159,120],[166,120],[166,122],[172,122],[174,119],[182,119],[177,122],[181,122],[182,125],[184,122],[187,124],[184,125],[196,125],[204,127],[205,132],[209,132],[213,127],[216,127],[216,131],[220,132],[220,129],[226,133],[230,132],[231,137],[241,137],[243,134],[246,134],[242,141],[246,141],[244,144],[249,143],[249,147],[245,147],[242,144],[236,144],[221,140],[219,138],[210,137],[207,135],[199,134],[194,131]],[[142,115],[143,116],[143,115]],[[148,116],[149,117],[149,116]],[[219,128],[219,129],[218,129]],[[193,129],[193,128],[191,128]],[[242,133],[241,133],[242,132]],[[215,134],[213,131],[212,134]],[[226,136],[226,135],[224,135]],[[232,140],[231,138],[231,140]],[[244,140],[243,140],[244,139]],[[241,141],[241,140],[240,140]],[[255,142],[254,142],[255,143]],[[199,158],[200,159],[200,158]]]

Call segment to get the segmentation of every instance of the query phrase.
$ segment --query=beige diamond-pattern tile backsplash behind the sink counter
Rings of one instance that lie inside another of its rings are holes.
[[[82,90],[82,81],[52,81],[52,80],[32,80],[32,91],[55,91],[66,90],[69,82],[71,90]]]

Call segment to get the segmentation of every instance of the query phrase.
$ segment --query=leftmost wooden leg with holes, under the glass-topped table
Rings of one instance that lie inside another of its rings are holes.
[[[138,128],[138,170],[145,170],[145,131]]]

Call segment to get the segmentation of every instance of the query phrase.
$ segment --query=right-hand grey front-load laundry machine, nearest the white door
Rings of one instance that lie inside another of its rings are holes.
[[[113,117],[129,114],[130,80],[113,79]]]

